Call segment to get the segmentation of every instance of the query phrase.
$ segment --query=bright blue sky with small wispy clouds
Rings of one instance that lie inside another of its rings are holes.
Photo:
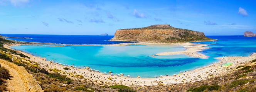
[[[0,0],[0,34],[114,35],[157,24],[256,33],[256,0]]]

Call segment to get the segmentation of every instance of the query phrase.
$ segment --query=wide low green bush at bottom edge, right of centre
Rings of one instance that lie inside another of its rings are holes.
[[[205,89],[208,89],[209,91],[212,90],[219,90],[221,88],[221,86],[217,85],[217,84],[212,84],[212,85],[201,85],[200,87],[190,87],[189,90],[187,90],[187,92],[192,91],[192,92],[203,92]]]

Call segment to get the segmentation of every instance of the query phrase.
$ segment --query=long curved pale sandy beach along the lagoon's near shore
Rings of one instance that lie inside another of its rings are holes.
[[[22,44],[14,44],[14,45],[17,46]],[[4,47],[9,48],[10,46],[13,46],[13,45],[8,45],[8,46],[5,45]],[[12,48],[9,48],[9,49],[12,49]],[[19,51],[19,50],[16,50],[16,51]],[[66,72],[66,74],[62,73],[63,75],[67,75],[67,77],[70,77],[72,79],[78,79],[71,76],[79,74],[79,75],[83,75],[84,78],[89,79],[91,81],[103,81],[103,82],[108,82],[109,84],[121,84],[120,81],[122,81],[123,85],[158,85],[159,83],[163,83],[167,85],[167,84],[184,83],[184,82],[195,82],[195,81],[207,79],[209,77],[221,76],[221,74],[228,73],[228,72],[224,72],[226,71],[226,68],[219,67],[219,65],[223,63],[222,61],[222,63],[221,62],[213,63],[208,66],[203,66],[191,71],[186,71],[184,72],[185,76],[183,75],[183,73],[179,76],[171,75],[171,76],[160,76],[157,78],[134,78],[134,77],[126,77],[126,75],[111,76],[110,74],[104,74],[102,72],[89,71],[86,69],[81,69],[81,68],[76,68],[71,66],[62,66],[61,64],[58,64],[58,63],[45,61],[45,58],[33,56],[32,54],[25,53],[23,51],[19,51],[19,52],[22,54],[25,54],[26,56],[29,56],[31,58],[30,59],[31,61],[38,62],[40,64],[40,67],[45,69],[54,69],[54,68],[60,69]],[[250,59],[246,59],[246,58],[250,58]],[[251,59],[255,59],[255,58],[256,58],[255,53],[251,54],[251,56],[248,56],[248,57],[239,58],[241,59],[241,62],[239,62],[238,64],[241,64],[242,62],[248,62]],[[231,59],[232,57],[228,57],[228,62],[233,62]],[[234,69],[235,67],[234,65],[237,65],[237,64],[233,64],[232,66],[229,66],[229,67],[232,67]],[[68,67],[71,70],[64,70],[63,69],[64,67]],[[211,70],[216,70],[216,71],[211,71]],[[216,72],[222,72],[222,73],[216,73]],[[214,76],[209,76],[209,73],[214,74]],[[111,80],[109,80],[108,77],[111,77]]]

